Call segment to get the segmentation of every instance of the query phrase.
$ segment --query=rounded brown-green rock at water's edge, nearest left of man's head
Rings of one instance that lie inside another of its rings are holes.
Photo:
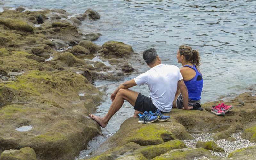
[[[134,53],[130,45],[117,41],[105,42],[99,52],[102,52],[105,55],[114,55],[120,57],[129,56],[130,54]]]

